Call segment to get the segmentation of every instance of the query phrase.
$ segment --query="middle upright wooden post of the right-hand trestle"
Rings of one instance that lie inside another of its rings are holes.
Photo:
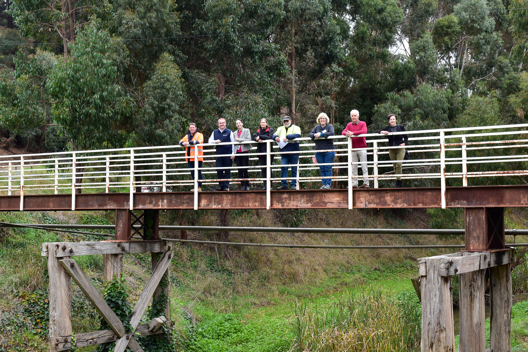
[[[460,285],[459,352],[485,352],[486,350],[485,273],[486,269],[482,269],[458,275]]]

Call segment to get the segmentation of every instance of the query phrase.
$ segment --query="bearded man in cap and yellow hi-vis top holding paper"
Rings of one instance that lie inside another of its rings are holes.
[[[288,165],[291,165],[291,189],[297,189],[297,164],[299,164],[299,153],[291,153],[293,151],[299,151],[299,142],[292,140],[295,138],[300,138],[300,128],[299,126],[293,125],[291,123],[291,118],[289,116],[285,116],[282,118],[282,123],[284,123],[284,126],[280,126],[275,134],[271,137],[272,139],[275,139],[277,142],[281,143],[287,143],[286,145],[282,146],[280,148],[280,151],[290,152],[286,154],[281,154],[281,165],[280,168],[280,177],[282,177],[282,182],[280,184],[280,187],[277,189],[280,191],[284,191],[285,189],[288,189],[288,181],[284,178],[288,177]],[[295,165],[295,166],[294,166]]]

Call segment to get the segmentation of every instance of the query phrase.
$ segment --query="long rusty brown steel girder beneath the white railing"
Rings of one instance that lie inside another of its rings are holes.
[[[72,210],[71,194],[25,195],[24,211]],[[77,194],[76,210],[129,209],[128,193]],[[198,208],[265,209],[266,191],[200,192]],[[193,192],[134,193],[134,209],[193,209]],[[347,189],[271,191],[272,209],[348,208]],[[447,187],[447,207],[528,206],[528,186]],[[354,189],[354,208],[439,208],[440,187]],[[20,196],[0,196],[0,211],[20,211]]]

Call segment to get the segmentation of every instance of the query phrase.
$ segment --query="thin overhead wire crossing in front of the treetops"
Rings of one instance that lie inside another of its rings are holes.
[[[482,13],[492,13],[492,12],[504,12],[504,11],[514,11],[520,9],[528,9],[528,7],[517,7],[517,8],[505,8],[493,11],[480,11],[480,12],[468,12],[468,15],[476,15]],[[409,21],[415,20],[427,20],[431,17],[413,17],[409,18]],[[390,21],[375,21],[375,22],[361,22],[364,24],[377,24],[377,23],[389,23],[389,22],[401,22],[399,20],[390,20]],[[200,37],[213,37],[213,36],[224,36],[224,35],[240,35],[240,34],[260,34],[260,33],[274,33],[274,32],[285,32],[285,31],[299,31],[299,30],[312,30],[317,28],[331,28],[331,27],[343,27],[350,24],[334,24],[334,25],[325,25],[325,26],[314,26],[314,27],[301,27],[301,28],[285,28],[282,30],[270,30],[270,31],[253,31],[253,32],[234,32],[234,33],[218,33],[218,34],[197,34],[197,35],[180,35],[180,36],[171,36],[171,37],[151,37],[151,38],[138,38],[138,39],[119,39],[122,42],[130,41],[140,41],[140,40],[167,40],[167,39],[183,39],[183,38],[200,38]],[[95,43],[96,41],[90,41],[90,43]],[[51,45],[51,44],[64,44],[63,42],[51,42],[51,43],[20,43],[20,44],[0,44],[3,45]]]

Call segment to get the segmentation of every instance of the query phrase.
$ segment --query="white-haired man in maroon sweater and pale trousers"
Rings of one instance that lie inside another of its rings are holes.
[[[356,135],[366,134],[366,123],[360,121],[360,113],[357,110],[350,112],[350,118],[352,122],[348,122],[341,135],[351,137]],[[354,137],[352,138],[352,148],[366,148],[365,137]],[[370,188],[369,187],[369,168],[366,165],[366,149],[352,150],[352,188],[358,188],[358,177],[357,177],[357,161],[361,162],[361,169],[363,170],[363,184],[359,188]],[[355,177],[354,177],[355,176]],[[348,188],[348,187],[347,187]]]

